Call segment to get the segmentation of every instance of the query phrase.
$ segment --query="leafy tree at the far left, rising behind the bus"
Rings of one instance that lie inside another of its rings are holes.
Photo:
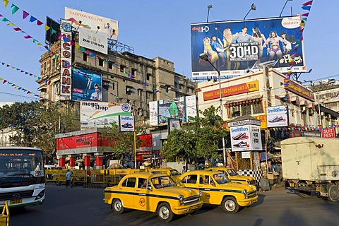
[[[51,158],[55,157],[55,135],[79,130],[80,119],[71,109],[37,101],[15,102],[0,107],[0,129],[13,132],[6,145],[42,148],[44,155]]]

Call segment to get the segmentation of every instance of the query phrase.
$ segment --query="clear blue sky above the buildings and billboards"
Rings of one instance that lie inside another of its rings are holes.
[[[134,49],[134,54],[152,59],[162,57],[174,62],[177,73],[191,78],[191,23],[206,22],[208,5],[212,5],[209,22],[222,20],[242,20],[251,8],[247,19],[277,17],[283,9],[285,0],[238,0],[238,1],[51,1],[25,0],[9,1],[7,8],[0,3],[0,14],[16,26],[8,26],[0,18],[0,61],[33,75],[40,76],[40,56],[45,52],[43,47],[32,43],[32,39],[23,38],[25,34],[13,30],[19,27],[38,42],[44,44],[44,28],[23,20],[23,11],[45,23],[46,16],[54,20],[64,18],[64,8],[74,8],[87,13],[119,20],[119,42]],[[307,13],[302,4],[307,0],[287,1],[282,16]],[[11,13],[11,4],[19,7],[17,13]],[[304,29],[304,53],[308,69],[300,81],[316,81],[321,78],[339,79],[338,21],[339,1],[314,0]],[[0,78],[10,81],[25,90],[39,94],[36,78],[20,73],[16,69],[0,64]],[[30,102],[38,100],[18,88],[3,84],[0,81],[0,102]]]

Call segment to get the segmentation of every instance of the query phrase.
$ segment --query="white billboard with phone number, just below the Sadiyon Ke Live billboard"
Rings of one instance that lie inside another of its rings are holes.
[[[102,54],[107,54],[107,37],[103,32],[94,32],[85,28],[79,28],[79,45],[92,49]]]

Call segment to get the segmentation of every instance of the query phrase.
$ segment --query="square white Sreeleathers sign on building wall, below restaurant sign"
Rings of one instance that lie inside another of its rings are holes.
[[[267,107],[267,127],[288,126],[287,106]]]

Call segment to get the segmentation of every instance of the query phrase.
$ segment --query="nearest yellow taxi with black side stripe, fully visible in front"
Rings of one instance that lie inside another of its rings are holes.
[[[163,222],[203,206],[201,192],[177,186],[169,176],[152,172],[127,174],[117,186],[107,187],[104,194],[104,202],[115,213],[123,213],[125,208],[157,212]]]

